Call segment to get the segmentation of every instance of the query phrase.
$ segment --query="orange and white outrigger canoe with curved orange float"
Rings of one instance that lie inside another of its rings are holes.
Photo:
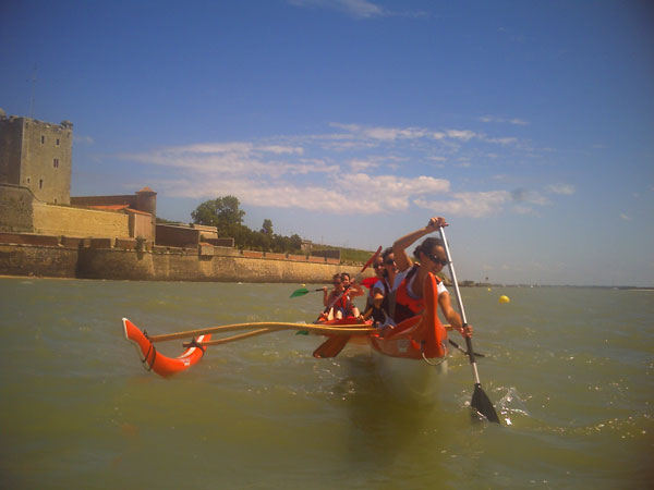
[[[426,307],[422,315],[404,320],[393,328],[376,329],[367,323],[354,323],[353,319],[331,320],[319,324],[257,322],[213,327],[164,335],[148,335],[133,322],[123,318],[125,338],[132,341],[140,354],[141,362],[148,370],[162,377],[183,371],[203,357],[207,346],[233,342],[249,336],[261,335],[279,330],[304,330],[328,336],[322,344],[336,343],[334,357],[352,338],[367,341],[377,358],[379,372],[389,390],[402,397],[431,397],[437,390],[439,375],[447,371],[447,331],[437,315],[436,280],[428,274],[424,284]],[[249,330],[230,338],[210,340],[211,333]],[[186,350],[179,357],[168,357],[159,353],[156,342],[190,339]],[[325,352],[323,352],[325,353]]]

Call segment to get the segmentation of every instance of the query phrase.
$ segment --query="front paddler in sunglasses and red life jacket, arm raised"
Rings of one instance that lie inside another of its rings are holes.
[[[414,242],[421,237],[438,231],[440,226],[447,226],[445,218],[432,218],[425,228],[411,232],[392,244],[398,273],[395,277],[392,292],[390,295],[389,314],[399,323],[407,318],[420,315],[424,309],[423,284],[427,273],[432,272],[438,283],[438,306],[445,318],[452,328],[461,335],[472,338],[472,326],[463,328],[461,316],[452,308],[450,295],[438,279],[438,273],[448,265],[445,246],[439,238],[427,237],[414,250],[413,256],[417,262],[413,262],[407,254]]]

